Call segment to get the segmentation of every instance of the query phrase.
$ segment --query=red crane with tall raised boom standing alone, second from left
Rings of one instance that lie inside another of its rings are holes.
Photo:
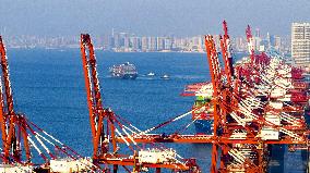
[[[172,149],[148,148],[138,146],[130,133],[139,133],[136,127],[129,124],[122,118],[116,115],[111,109],[104,108],[98,73],[96,69],[96,57],[94,46],[88,34],[81,35],[81,54],[84,70],[85,88],[87,94],[87,106],[93,137],[93,159],[95,164],[114,165],[114,172],[121,165],[126,171],[131,172],[127,166],[132,166],[133,172],[141,172],[147,169],[170,169],[175,171],[200,172],[195,161],[188,159],[179,161],[178,155]],[[127,124],[127,125],[126,125]],[[119,147],[116,135],[122,138],[132,155],[118,153]],[[129,141],[126,140],[126,137]],[[134,145],[131,146],[130,143]],[[153,144],[154,145],[154,144]],[[109,168],[106,168],[109,170]]]

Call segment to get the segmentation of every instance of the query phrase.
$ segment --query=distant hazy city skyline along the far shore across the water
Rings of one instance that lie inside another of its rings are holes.
[[[191,37],[171,36],[140,36],[136,34],[116,32],[102,36],[93,36],[94,46],[97,49],[115,52],[204,52],[203,35]],[[216,46],[219,49],[219,35],[214,35]],[[246,36],[231,37],[233,48],[236,52],[248,50]],[[271,47],[282,53],[290,52],[290,36],[278,36],[261,33],[253,29],[255,51],[264,51]],[[37,37],[21,36],[9,37],[8,48],[76,48],[80,46],[80,37]]]

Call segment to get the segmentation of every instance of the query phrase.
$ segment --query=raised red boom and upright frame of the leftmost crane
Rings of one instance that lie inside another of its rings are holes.
[[[1,82],[0,82],[0,121],[1,121],[1,133],[2,144],[4,150],[3,162],[10,162],[10,151],[12,151],[13,158],[16,161],[21,161],[21,140],[24,141],[25,156],[27,161],[31,160],[31,151],[27,139],[27,132],[24,127],[23,116],[14,112],[13,95],[9,74],[8,57],[5,47],[0,36],[0,54],[1,54]],[[3,84],[4,92],[3,96]],[[5,99],[4,99],[5,98]],[[7,107],[5,107],[7,106]]]

